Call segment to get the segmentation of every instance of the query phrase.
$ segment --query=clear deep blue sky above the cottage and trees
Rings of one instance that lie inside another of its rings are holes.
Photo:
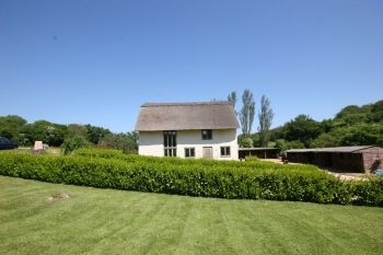
[[[0,0],[0,115],[130,131],[246,88],[274,127],[382,100],[383,1]]]

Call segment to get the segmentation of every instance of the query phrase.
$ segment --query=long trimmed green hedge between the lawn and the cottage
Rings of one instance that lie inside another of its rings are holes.
[[[257,171],[246,165],[231,169],[224,164],[201,167],[202,163],[175,164],[173,159],[166,164],[138,157],[129,162],[96,157],[3,153],[0,174],[50,183],[200,197],[383,206],[383,178],[343,182],[321,171]]]

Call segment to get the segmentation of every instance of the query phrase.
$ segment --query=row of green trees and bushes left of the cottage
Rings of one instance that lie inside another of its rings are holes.
[[[120,149],[136,152],[138,134],[114,134],[107,128],[79,124],[61,125],[47,120],[32,124],[16,115],[0,116],[0,136],[30,147],[34,141],[43,141],[50,147],[63,147],[67,152],[86,146]]]

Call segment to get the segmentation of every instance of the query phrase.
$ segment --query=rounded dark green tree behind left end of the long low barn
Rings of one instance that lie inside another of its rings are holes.
[[[293,120],[287,123],[283,129],[286,140],[299,140],[306,148],[323,132],[321,124],[304,114],[298,115]]]

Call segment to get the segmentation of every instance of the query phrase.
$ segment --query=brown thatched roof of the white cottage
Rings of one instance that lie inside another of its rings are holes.
[[[141,106],[137,131],[239,128],[231,103],[147,103]]]

